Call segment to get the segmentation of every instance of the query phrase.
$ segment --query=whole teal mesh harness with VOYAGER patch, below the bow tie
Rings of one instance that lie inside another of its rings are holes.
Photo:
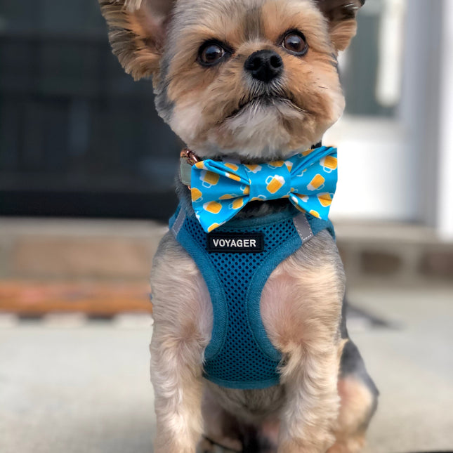
[[[281,355],[265,332],[261,292],[270,273],[330,221],[289,207],[261,218],[232,219],[206,233],[195,214],[178,206],[170,220],[211,296],[214,327],[205,351],[204,377],[219,386],[257,389],[277,385]]]

